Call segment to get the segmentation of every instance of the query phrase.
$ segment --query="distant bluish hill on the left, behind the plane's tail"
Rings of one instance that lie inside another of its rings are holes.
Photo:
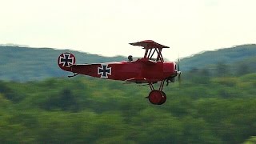
[[[67,73],[60,70],[57,65],[59,54],[66,51],[75,55],[77,63],[126,60],[122,56],[103,57],[74,50],[54,50],[51,48],[0,46],[0,50],[0,79],[18,82],[66,76]]]

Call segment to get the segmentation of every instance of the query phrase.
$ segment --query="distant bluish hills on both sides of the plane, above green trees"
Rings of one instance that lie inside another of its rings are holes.
[[[54,50],[51,48],[30,48],[25,46],[0,46],[0,79],[26,82],[44,78],[67,76],[57,66],[59,54],[69,51],[77,63],[113,62],[126,60],[125,57],[103,57],[74,50]],[[213,73],[218,65],[229,68],[235,74],[256,72],[256,45],[234,46],[232,48],[206,51],[189,58],[182,58],[182,72],[206,69]]]

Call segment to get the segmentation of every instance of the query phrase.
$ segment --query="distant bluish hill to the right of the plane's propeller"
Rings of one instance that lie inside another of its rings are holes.
[[[193,70],[194,68],[213,69],[218,63],[224,63],[230,67],[238,64],[250,67],[251,71],[256,71],[256,45],[241,45],[232,48],[219,49],[215,51],[205,51],[188,58],[182,58],[181,69]]]

